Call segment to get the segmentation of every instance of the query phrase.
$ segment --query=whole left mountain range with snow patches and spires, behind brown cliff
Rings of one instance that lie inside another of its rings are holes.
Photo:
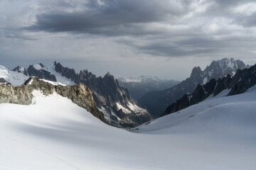
[[[32,64],[28,69],[16,67],[9,71],[0,67],[0,83],[11,83],[16,86],[30,77],[49,81],[58,81],[65,85],[85,84],[92,91],[97,108],[105,115],[110,125],[121,128],[132,128],[151,120],[151,114],[129,95],[127,89],[119,86],[117,79],[108,72],[105,77],[96,77],[87,70],[76,73],[74,69],[63,67],[53,62],[48,67],[43,64]]]

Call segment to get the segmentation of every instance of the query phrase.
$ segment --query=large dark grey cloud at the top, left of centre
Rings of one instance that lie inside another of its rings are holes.
[[[67,2],[58,2],[54,5],[58,5],[57,11],[52,10],[53,6],[44,8],[46,11],[38,14],[36,23],[27,29],[115,36],[134,35],[141,27],[137,24],[166,21],[171,17],[183,15],[189,7],[188,1],[171,3],[166,0],[154,0],[150,3],[146,0],[102,0],[100,3],[91,0],[83,3],[83,10],[78,11],[72,11],[75,5]]]

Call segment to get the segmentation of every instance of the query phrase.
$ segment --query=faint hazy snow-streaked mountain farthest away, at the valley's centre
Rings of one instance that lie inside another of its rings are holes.
[[[119,78],[120,86],[128,89],[129,94],[135,99],[139,99],[150,91],[161,91],[175,86],[179,81],[161,80],[158,77],[138,77],[138,78]]]

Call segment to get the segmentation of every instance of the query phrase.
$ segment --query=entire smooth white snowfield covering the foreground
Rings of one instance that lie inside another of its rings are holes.
[[[256,86],[127,132],[58,94],[0,104],[0,169],[255,169]]]

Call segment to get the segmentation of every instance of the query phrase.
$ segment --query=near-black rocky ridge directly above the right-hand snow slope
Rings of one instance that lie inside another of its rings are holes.
[[[166,108],[162,115],[168,115],[183,108],[192,106],[204,101],[209,96],[216,96],[225,89],[228,89],[227,96],[242,94],[256,84],[256,64],[250,68],[238,69],[233,77],[228,74],[223,79],[211,79],[206,84],[198,84],[193,94],[184,94],[175,103]]]

